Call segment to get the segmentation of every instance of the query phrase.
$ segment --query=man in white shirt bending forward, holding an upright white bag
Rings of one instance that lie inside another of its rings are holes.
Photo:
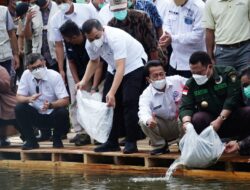
[[[82,32],[88,39],[86,49],[90,57],[86,72],[77,88],[86,89],[94,74],[100,56],[108,64],[108,73],[103,90],[103,101],[114,107],[114,120],[109,139],[95,148],[96,152],[119,151],[119,126],[122,117],[126,130],[126,142],[123,153],[138,152],[138,101],[143,85],[143,60],[147,55],[142,45],[121,29],[102,26],[96,19],[86,21]],[[122,115],[119,115],[122,113]]]

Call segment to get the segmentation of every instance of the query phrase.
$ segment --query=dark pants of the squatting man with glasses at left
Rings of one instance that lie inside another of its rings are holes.
[[[29,104],[17,104],[16,120],[20,133],[28,141],[35,141],[33,126],[53,130],[53,138],[61,138],[69,130],[69,112],[66,108],[57,108],[51,114],[40,114]]]

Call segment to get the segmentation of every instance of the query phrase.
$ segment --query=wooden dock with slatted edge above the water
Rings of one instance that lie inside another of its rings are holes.
[[[40,148],[34,150],[21,150],[22,143],[19,139],[12,138],[11,142],[10,147],[0,148],[0,166],[119,170],[165,175],[167,168],[180,155],[177,145],[173,144],[170,146],[170,154],[151,156],[148,140],[139,141],[139,152],[134,154],[95,153],[94,145],[77,147],[68,140],[64,140],[65,147],[62,149],[51,148],[52,142],[40,142]],[[179,169],[175,175],[249,180],[249,158],[237,154],[223,155],[218,163],[210,168]]]

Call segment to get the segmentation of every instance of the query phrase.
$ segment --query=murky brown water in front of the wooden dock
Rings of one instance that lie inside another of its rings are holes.
[[[249,190],[250,181],[222,181],[124,172],[0,168],[0,190]]]

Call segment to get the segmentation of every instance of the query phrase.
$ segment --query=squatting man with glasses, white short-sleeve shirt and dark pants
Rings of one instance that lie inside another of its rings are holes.
[[[33,126],[54,128],[53,147],[62,148],[61,136],[68,132],[69,95],[60,74],[45,67],[41,54],[27,57],[28,69],[17,90],[16,120],[25,139],[23,150],[39,148]]]

